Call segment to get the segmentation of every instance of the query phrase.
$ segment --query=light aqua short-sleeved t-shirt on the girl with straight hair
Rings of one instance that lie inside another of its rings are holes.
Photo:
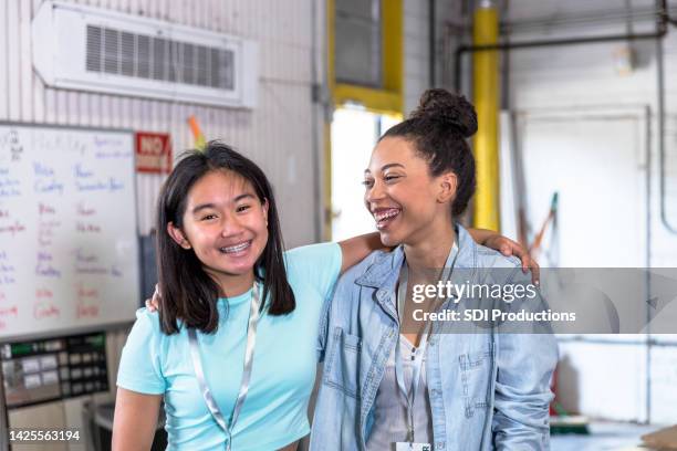
[[[285,252],[296,307],[284,316],[263,314],[259,321],[249,394],[233,429],[232,451],[277,450],[310,432],[308,402],[315,380],[320,314],[338,277],[341,259],[336,243]],[[198,333],[207,382],[227,419],[242,377],[250,301],[251,290],[219,300],[218,332]],[[165,335],[157,313],[140,308],[123,349],[117,386],[164,394],[167,449],[225,448],[226,433],[199,391],[185,328]]]

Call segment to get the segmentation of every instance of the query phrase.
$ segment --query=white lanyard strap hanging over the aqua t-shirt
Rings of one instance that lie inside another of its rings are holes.
[[[261,298],[259,296],[259,285],[254,282],[252,289],[251,296],[251,307],[249,311],[249,324],[247,327],[247,348],[244,349],[244,368],[242,370],[242,380],[240,382],[240,390],[238,392],[238,398],[236,400],[235,406],[232,407],[232,413],[230,417],[230,426],[227,423],[223,415],[221,415],[221,410],[213,399],[213,395],[209,389],[209,385],[207,384],[207,378],[205,377],[205,369],[202,368],[202,359],[200,358],[200,348],[197,340],[197,333],[194,328],[188,329],[188,342],[190,344],[190,358],[192,359],[192,367],[195,369],[195,377],[198,380],[198,385],[200,387],[200,391],[202,394],[202,398],[205,398],[205,402],[207,403],[207,408],[209,412],[213,417],[215,421],[226,432],[228,437],[228,441],[226,443],[226,450],[230,451],[230,445],[232,443],[232,429],[235,428],[236,422],[238,421],[238,417],[240,416],[240,410],[242,409],[242,405],[247,399],[247,394],[249,391],[249,380],[251,379],[251,368],[253,364],[253,349],[257,343],[257,326],[259,324]]]

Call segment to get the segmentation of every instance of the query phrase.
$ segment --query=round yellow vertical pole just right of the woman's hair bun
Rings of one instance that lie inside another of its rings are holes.
[[[498,43],[498,10],[490,1],[480,1],[475,12],[472,39],[475,45]],[[499,230],[499,55],[497,51],[478,51],[472,56],[473,102],[478,133],[475,136],[477,161],[477,195],[473,226]]]

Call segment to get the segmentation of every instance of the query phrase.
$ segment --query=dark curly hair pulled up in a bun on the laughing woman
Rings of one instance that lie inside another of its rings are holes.
[[[475,157],[466,140],[477,132],[475,107],[461,95],[441,88],[427,90],[406,120],[390,127],[381,139],[400,137],[412,141],[437,177],[452,171],[458,178],[451,214],[466,211],[475,193]],[[379,140],[381,140],[379,139]]]

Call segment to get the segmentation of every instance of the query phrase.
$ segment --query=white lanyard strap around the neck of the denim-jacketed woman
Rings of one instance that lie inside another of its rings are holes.
[[[448,281],[451,277],[451,273],[454,272],[454,265],[456,264],[456,259],[458,258],[458,247],[456,242],[451,247],[449,251],[449,255],[447,256],[447,261],[445,262],[445,269],[441,273],[441,281]],[[407,284],[409,281],[409,270],[407,266],[406,260],[402,264],[402,269],[399,270],[399,279],[397,282],[397,315],[399,317],[399,333],[402,333],[402,321],[404,318],[404,310],[405,303],[407,298]],[[395,343],[395,379],[397,380],[397,387],[399,391],[404,396],[407,402],[407,441],[410,443],[414,442],[414,402],[416,400],[416,396],[418,394],[418,386],[420,381],[420,374],[424,365],[424,356],[426,354],[427,345],[428,345],[428,335],[430,333],[430,322],[427,322],[421,335],[420,342],[418,344],[418,348],[416,349],[413,358],[413,368],[412,368],[412,386],[410,389],[407,390],[404,382],[404,368],[402,364],[402,352],[399,340],[402,339],[399,336],[397,337],[397,342]],[[410,396],[409,396],[410,395]]]

